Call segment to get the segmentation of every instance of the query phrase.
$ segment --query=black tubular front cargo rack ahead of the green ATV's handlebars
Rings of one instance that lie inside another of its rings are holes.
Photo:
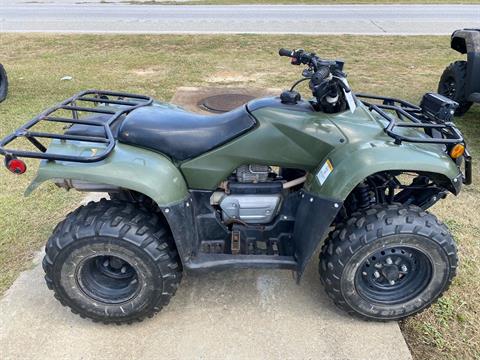
[[[395,139],[395,144],[400,145],[403,141],[412,143],[431,144],[459,144],[463,143],[463,135],[452,122],[442,122],[425,112],[421,107],[405,100],[367,94],[355,94],[370,111],[375,111],[388,121],[385,133]],[[362,100],[380,100],[381,104]],[[395,116],[391,116],[394,112]],[[403,120],[401,122],[398,119]],[[407,121],[405,121],[407,120]],[[429,137],[412,137],[402,135],[395,130],[397,128],[423,129]]]

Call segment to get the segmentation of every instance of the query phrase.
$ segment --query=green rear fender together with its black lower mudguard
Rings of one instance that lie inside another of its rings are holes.
[[[48,151],[69,155],[89,155],[99,150],[85,143],[56,140],[48,148]],[[162,210],[182,262],[188,260],[193,251],[195,236],[187,185],[177,167],[161,154],[117,143],[105,160],[94,163],[42,161],[25,194],[29,195],[48,180],[66,184],[80,181],[99,185],[97,189],[103,191],[121,188],[144,194]]]

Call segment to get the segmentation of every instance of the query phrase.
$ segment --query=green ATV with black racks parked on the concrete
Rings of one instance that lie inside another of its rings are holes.
[[[319,246],[320,280],[351,314],[397,320],[442,295],[456,248],[426,209],[471,182],[457,104],[354,95],[343,62],[280,55],[305,70],[279,97],[209,116],[84,91],[0,142],[13,173],[42,159],[26,194],[47,180],[109,194],[47,242],[45,280],[63,305],[132,323],[166,306],[184,272],[289,269],[299,281]],[[302,81],[310,100],[295,91]]]

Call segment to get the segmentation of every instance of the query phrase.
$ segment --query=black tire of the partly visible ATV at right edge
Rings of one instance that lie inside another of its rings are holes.
[[[438,93],[458,102],[458,108],[455,115],[462,116],[472,106],[471,101],[467,101],[467,62],[455,61],[448,65],[438,83]]]

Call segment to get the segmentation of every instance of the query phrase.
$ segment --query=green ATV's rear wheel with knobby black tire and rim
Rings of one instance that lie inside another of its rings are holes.
[[[103,323],[152,317],[181,280],[171,235],[155,214],[101,200],[70,213],[45,248],[45,280],[73,313]]]

